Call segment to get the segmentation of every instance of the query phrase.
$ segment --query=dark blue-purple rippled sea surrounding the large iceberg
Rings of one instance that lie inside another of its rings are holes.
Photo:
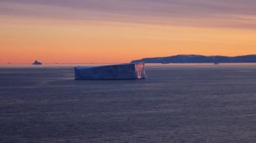
[[[256,64],[147,64],[145,80],[0,67],[0,142],[256,142]]]

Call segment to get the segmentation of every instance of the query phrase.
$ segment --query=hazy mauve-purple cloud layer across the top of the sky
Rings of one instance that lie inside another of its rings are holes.
[[[2,0],[0,15],[256,29],[254,0]]]

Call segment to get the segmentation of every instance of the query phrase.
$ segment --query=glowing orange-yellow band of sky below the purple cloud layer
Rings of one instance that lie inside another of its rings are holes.
[[[212,20],[209,18],[199,19],[200,23],[205,23],[203,26],[165,24],[175,19],[161,20],[165,22],[67,21],[1,15],[0,64],[24,64],[34,60],[43,63],[107,63],[175,54],[256,54],[254,28],[208,26]]]

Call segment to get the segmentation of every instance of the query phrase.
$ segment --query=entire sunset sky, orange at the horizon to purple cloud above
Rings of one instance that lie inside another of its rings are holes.
[[[0,0],[0,64],[256,54],[255,0]]]

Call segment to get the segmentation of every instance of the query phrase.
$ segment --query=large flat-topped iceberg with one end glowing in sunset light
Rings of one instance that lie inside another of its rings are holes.
[[[108,66],[77,66],[75,79],[145,79],[144,63],[116,64]]]

